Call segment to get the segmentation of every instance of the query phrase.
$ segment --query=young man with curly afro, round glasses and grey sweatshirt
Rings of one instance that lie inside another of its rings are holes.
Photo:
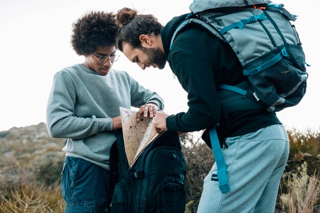
[[[153,118],[164,102],[139,85],[117,61],[119,26],[113,13],[91,11],[73,23],[71,44],[83,63],[55,74],[47,105],[47,127],[54,138],[67,138],[61,188],[65,212],[105,212],[110,147],[122,127],[119,107],[140,108]]]

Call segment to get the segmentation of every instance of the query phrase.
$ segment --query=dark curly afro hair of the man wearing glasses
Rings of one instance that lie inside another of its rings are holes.
[[[98,46],[116,45],[119,26],[112,12],[91,11],[72,25],[71,44],[79,56],[88,56]]]

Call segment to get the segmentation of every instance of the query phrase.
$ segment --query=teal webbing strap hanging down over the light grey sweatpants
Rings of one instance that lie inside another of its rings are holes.
[[[219,188],[222,193],[226,193],[230,191],[230,186],[229,186],[228,178],[226,176],[226,164],[221,151],[216,128],[214,127],[210,129],[209,134],[210,134],[212,152],[217,164]]]

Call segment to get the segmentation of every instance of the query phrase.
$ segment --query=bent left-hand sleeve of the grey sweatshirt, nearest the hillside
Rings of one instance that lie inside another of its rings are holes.
[[[47,104],[47,128],[54,138],[83,139],[101,131],[112,130],[111,118],[75,116],[76,89],[63,71],[54,76]]]

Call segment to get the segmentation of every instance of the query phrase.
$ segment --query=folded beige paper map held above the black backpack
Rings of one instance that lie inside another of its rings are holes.
[[[150,117],[142,117],[140,121],[136,121],[137,112],[120,107],[124,146],[130,167],[148,144],[165,131],[157,133]]]

